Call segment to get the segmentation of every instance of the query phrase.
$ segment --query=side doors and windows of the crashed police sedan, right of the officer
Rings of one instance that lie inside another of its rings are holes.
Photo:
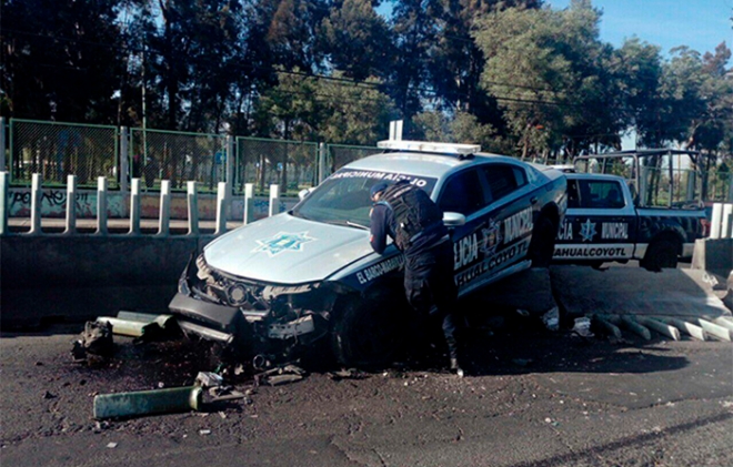
[[[482,164],[453,174],[438,197],[465,224],[451,232],[461,294],[491,282],[526,256],[532,207],[526,174],[512,164]]]

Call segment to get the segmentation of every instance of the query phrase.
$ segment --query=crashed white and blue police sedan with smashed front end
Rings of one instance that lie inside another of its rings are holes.
[[[383,141],[291,211],[231,231],[192,257],[170,303],[181,328],[239,358],[327,343],[349,366],[391,362],[410,307],[402,254],[369,243],[370,187],[409,180],[444,212],[460,295],[546,266],[566,206],[564,175],[466,144]]]

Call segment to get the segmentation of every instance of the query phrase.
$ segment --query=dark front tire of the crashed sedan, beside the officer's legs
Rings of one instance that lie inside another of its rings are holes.
[[[337,315],[331,334],[337,362],[364,369],[391,364],[404,339],[399,316],[400,311],[386,303],[349,300]]]

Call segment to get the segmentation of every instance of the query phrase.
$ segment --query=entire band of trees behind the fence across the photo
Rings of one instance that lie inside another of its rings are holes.
[[[3,0],[0,112],[364,145],[402,118],[410,138],[555,159],[633,128],[703,169],[730,158],[724,43],[614,49],[590,0],[543,3]]]

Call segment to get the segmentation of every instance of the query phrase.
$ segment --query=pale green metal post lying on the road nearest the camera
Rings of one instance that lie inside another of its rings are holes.
[[[94,418],[199,410],[201,395],[202,389],[199,386],[100,394],[94,396]]]

